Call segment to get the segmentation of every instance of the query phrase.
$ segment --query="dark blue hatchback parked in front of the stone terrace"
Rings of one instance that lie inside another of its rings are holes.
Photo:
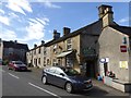
[[[50,66],[43,70],[41,82],[64,88],[68,93],[91,89],[92,79],[71,68]]]

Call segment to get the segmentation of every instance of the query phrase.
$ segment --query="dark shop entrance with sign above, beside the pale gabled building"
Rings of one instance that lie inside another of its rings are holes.
[[[95,49],[93,48],[83,49],[81,73],[87,77],[96,77],[97,54]]]

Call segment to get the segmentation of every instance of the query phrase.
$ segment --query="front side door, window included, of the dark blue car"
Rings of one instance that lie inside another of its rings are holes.
[[[64,75],[64,76],[63,76]],[[64,83],[67,82],[66,79],[66,74],[60,68],[56,68],[55,72],[55,84],[57,86],[63,87]]]

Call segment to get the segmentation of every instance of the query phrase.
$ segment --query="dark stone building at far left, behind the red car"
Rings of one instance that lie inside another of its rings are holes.
[[[2,61],[21,60],[26,62],[26,51],[28,51],[26,44],[19,44],[16,40],[0,40],[0,59]]]

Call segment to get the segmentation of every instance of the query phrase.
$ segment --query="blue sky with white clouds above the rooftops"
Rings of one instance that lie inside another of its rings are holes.
[[[0,2],[0,38],[27,44],[52,39],[53,29],[63,35],[62,28],[74,32],[98,20],[100,4],[112,7],[114,20],[129,26],[129,2],[31,2],[28,0],[7,0]]]

